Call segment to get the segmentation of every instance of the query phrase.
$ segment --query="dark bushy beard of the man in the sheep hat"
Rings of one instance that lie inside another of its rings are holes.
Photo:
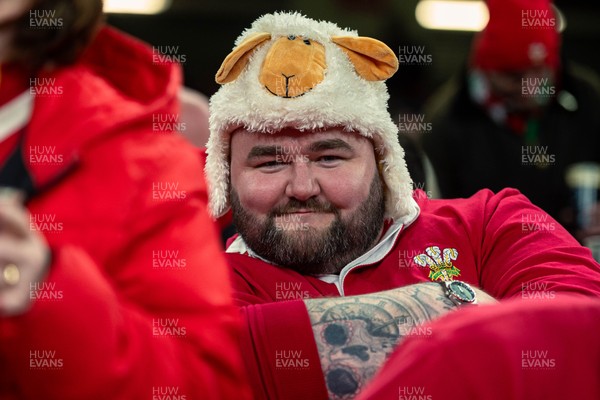
[[[290,199],[271,210],[266,221],[261,222],[242,207],[233,189],[231,208],[238,232],[257,255],[303,275],[316,275],[338,274],[376,243],[383,227],[385,202],[383,183],[375,173],[369,197],[346,219],[331,203],[310,198]],[[300,209],[332,213],[334,220],[329,227],[317,230],[289,215]],[[276,223],[276,217],[283,222]]]

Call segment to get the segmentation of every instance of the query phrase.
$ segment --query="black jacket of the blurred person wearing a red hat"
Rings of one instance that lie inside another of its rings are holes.
[[[539,120],[535,146],[495,123],[471,100],[466,73],[434,95],[425,110],[432,130],[423,135],[422,145],[443,197],[468,197],[482,188],[499,191],[513,187],[574,230],[565,170],[577,162],[600,163],[600,89],[593,75],[586,75],[581,68],[569,66],[563,71],[557,95],[570,93],[577,108],[568,110],[556,96]],[[535,151],[543,157],[532,155]],[[547,162],[540,166],[530,160]]]

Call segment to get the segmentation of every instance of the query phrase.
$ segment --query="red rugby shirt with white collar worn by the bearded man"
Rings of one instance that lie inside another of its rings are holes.
[[[516,190],[496,195],[485,190],[456,200],[428,200],[418,191],[416,198],[418,218],[407,227],[388,228],[373,257],[341,272],[340,290],[250,257],[239,239],[229,245],[234,297],[245,321],[243,354],[256,398],[327,397],[301,298],[358,295],[430,281],[432,270],[414,259],[431,247],[454,249],[456,257],[450,261],[460,273],[455,279],[499,299],[600,295],[600,266],[590,251]],[[294,352],[288,354],[304,367],[278,367],[275,360],[282,350]]]

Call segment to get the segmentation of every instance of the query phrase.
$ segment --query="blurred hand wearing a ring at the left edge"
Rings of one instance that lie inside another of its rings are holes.
[[[46,276],[49,254],[43,236],[30,229],[21,194],[0,189],[0,316],[29,309],[30,285]]]

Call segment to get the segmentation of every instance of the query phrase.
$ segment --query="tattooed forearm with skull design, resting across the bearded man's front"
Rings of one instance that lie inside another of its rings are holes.
[[[431,334],[422,324],[456,308],[434,282],[305,303],[330,399],[356,396],[404,336]]]

